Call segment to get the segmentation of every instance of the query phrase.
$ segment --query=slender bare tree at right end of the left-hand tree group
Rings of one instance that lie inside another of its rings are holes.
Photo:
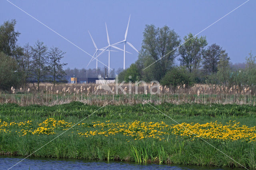
[[[66,73],[63,70],[63,66],[67,65],[67,63],[60,63],[60,60],[64,57],[63,55],[66,52],[62,52],[58,47],[52,47],[48,52],[49,55],[49,75],[52,77],[53,86],[56,85],[57,81],[64,81],[66,77]]]

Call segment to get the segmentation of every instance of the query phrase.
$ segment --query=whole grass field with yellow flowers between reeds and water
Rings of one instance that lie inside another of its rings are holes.
[[[0,152],[27,156],[99,109],[32,156],[256,168],[255,106],[154,107],[0,105]]]

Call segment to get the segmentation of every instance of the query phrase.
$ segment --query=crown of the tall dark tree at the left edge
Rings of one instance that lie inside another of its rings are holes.
[[[12,56],[16,49],[16,42],[20,35],[15,32],[16,20],[6,21],[0,26],[0,51]]]

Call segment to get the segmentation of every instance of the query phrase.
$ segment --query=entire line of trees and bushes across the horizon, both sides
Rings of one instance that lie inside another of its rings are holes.
[[[107,77],[106,67],[96,69],[66,69],[61,63],[65,52],[58,47],[48,48],[43,42],[23,47],[17,45],[19,32],[15,20],[0,26],[0,89],[26,87],[28,82],[38,89],[40,82],[55,86],[73,75],[76,77]],[[175,60],[179,65],[175,64]],[[152,64],[153,63],[153,64]],[[256,56],[249,53],[246,63],[231,65],[225,49],[213,43],[208,45],[205,36],[192,33],[183,39],[168,26],[156,28],[146,25],[138,59],[126,70],[112,70],[119,81],[160,81],[162,85],[193,85],[212,83],[224,85],[255,85]],[[131,77],[130,77],[131,76]]]

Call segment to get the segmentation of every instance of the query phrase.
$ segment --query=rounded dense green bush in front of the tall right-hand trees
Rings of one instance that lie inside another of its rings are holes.
[[[194,76],[184,67],[173,67],[164,75],[160,83],[171,87],[185,84],[188,87],[194,84]]]

